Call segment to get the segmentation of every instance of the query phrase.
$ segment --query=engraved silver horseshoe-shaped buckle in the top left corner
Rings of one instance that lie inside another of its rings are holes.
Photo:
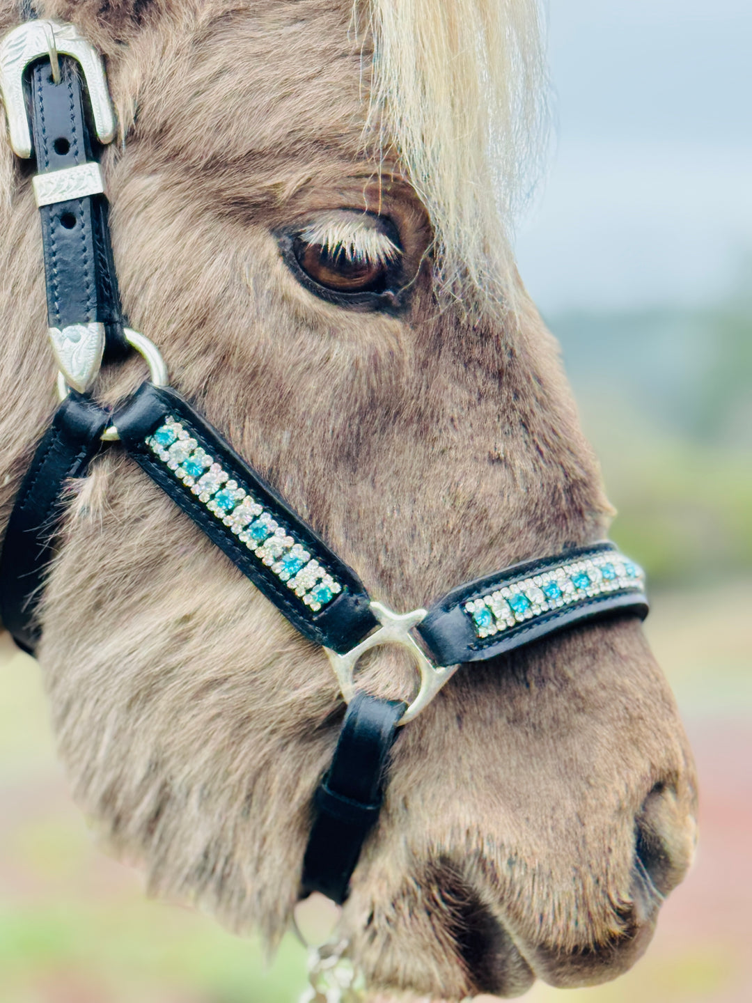
[[[81,64],[86,80],[96,134],[101,143],[115,136],[115,115],[107,91],[101,57],[72,24],[57,21],[27,21],[14,28],[0,44],[0,94],[8,117],[10,144],[17,156],[31,156],[31,135],[23,96],[23,74],[34,59],[49,54],[53,79],[56,54],[72,56]]]

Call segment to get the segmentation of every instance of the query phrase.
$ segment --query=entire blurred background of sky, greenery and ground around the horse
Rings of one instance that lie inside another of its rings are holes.
[[[749,1003],[752,8],[550,0],[558,148],[520,267],[650,576],[701,780],[697,863],[626,976],[527,1000]],[[147,901],[71,804],[35,664],[0,636],[0,1003],[292,1003],[305,958]]]

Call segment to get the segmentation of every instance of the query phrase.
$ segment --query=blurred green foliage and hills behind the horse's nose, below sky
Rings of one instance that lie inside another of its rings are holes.
[[[658,585],[752,568],[752,295],[550,326],[619,510],[614,538]]]

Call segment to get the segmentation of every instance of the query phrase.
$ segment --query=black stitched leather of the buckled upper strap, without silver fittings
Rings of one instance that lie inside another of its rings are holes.
[[[84,110],[78,64],[59,57],[61,80],[48,59],[31,70],[31,123],[37,171],[44,175],[93,159],[92,130]],[[39,210],[50,327],[100,323],[105,355],[124,355],[123,317],[103,195],[42,206]]]

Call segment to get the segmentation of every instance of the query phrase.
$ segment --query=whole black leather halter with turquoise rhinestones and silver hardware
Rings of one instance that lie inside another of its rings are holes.
[[[29,134],[24,86],[30,69]],[[36,608],[70,478],[109,443],[141,467],[288,621],[325,648],[348,704],[332,764],[312,806],[301,896],[345,901],[379,814],[399,725],[412,720],[460,665],[495,658],[572,624],[615,613],[645,617],[642,571],[604,542],[515,565],[448,592],[428,610],[398,615],[266,483],[220,432],[166,384],[155,347],[125,326],[97,148],[114,134],[101,61],[71,25],[30,21],[0,45],[0,88],[13,149],[29,157],[42,222],[49,335],[64,399],[15,499],[0,558],[0,613],[33,652]],[[135,347],[144,383],[116,414],[88,395],[103,356]],[[68,388],[71,388],[68,392]],[[358,692],[360,656],[397,644],[420,676],[414,700]]]

